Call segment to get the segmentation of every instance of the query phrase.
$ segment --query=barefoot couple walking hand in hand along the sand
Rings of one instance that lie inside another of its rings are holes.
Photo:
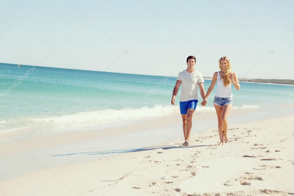
[[[218,133],[220,136],[220,143],[223,145],[229,142],[228,138],[228,115],[233,108],[233,94],[232,84],[239,90],[240,84],[234,72],[231,71],[231,63],[228,57],[223,56],[219,59],[220,71],[213,74],[211,85],[205,93],[202,74],[194,69],[196,64],[195,56],[188,56],[187,69],[178,74],[176,85],[173,88],[173,97],[171,104],[175,105],[176,95],[180,85],[182,84],[182,91],[180,96],[180,111],[183,119],[183,132],[185,142],[183,145],[188,146],[190,143],[190,133],[192,128],[192,116],[195,112],[198,103],[198,86],[200,95],[203,99],[201,105],[205,106],[207,98],[212,92],[215,84],[217,83],[217,90],[213,100],[216,115],[218,117]]]

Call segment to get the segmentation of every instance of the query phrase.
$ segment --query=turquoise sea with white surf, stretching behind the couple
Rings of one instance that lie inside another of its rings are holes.
[[[117,119],[178,114],[181,89],[176,105],[170,104],[176,77],[0,63],[0,133],[37,127],[46,133],[95,130]],[[205,80],[205,90],[210,83]],[[240,91],[233,88],[234,110],[294,105],[294,86],[240,84]],[[198,111],[214,111],[215,91],[208,107],[198,104]]]

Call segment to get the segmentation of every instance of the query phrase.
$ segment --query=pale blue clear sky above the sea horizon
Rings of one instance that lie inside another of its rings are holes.
[[[195,55],[196,69],[211,77],[228,56],[239,77],[293,79],[293,18],[290,0],[1,0],[0,62],[168,75]]]

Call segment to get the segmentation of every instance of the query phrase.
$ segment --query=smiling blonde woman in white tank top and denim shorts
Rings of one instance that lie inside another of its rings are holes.
[[[231,84],[235,86],[237,90],[240,89],[238,78],[234,72],[231,71],[231,63],[228,57],[223,56],[219,59],[220,71],[213,74],[211,85],[209,86],[205,100],[201,105],[205,106],[207,98],[213,90],[217,82],[217,90],[213,100],[214,108],[216,109],[216,115],[218,116],[218,133],[220,136],[220,144],[228,143],[228,115],[233,108],[233,94]]]

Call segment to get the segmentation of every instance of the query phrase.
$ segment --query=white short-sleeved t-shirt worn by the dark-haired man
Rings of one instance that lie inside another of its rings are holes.
[[[178,74],[177,80],[182,81],[182,91],[180,101],[198,100],[198,83],[203,83],[204,79],[199,71],[189,73],[186,69]]]

